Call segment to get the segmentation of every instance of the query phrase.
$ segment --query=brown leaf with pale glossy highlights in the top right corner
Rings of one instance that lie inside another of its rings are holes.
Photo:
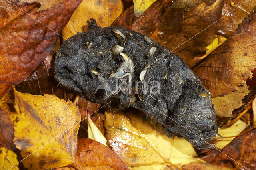
[[[222,8],[222,19],[217,23],[222,26],[218,30],[218,34],[226,38],[231,36],[242,20],[248,17],[255,7],[256,0],[225,0]]]

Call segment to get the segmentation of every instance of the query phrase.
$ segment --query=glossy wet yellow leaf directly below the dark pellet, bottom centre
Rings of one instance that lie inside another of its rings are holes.
[[[191,144],[183,138],[168,138],[161,127],[152,119],[145,119],[143,113],[128,113],[126,117],[114,110],[105,114],[108,143],[129,167],[200,161]]]

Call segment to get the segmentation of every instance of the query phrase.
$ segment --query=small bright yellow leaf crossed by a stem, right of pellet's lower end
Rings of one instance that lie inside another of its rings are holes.
[[[220,127],[218,128],[218,134],[223,137],[228,136],[236,136],[240,134],[245,128],[247,127],[247,124],[244,121],[241,121],[240,119],[234,123],[234,125],[231,125],[230,127]],[[233,138],[220,138],[218,139],[218,142],[216,143],[215,147],[222,149],[224,146],[229,144]]]

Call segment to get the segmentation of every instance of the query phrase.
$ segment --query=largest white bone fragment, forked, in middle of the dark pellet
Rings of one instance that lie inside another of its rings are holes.
[[[118,68],[116,73],[112,73],[109,78],[118,77],[123,78],[126,75],[132,76],[133,74],[133,62],[132,60],[124,53],[120,53],[123,56],[124,62],[122,63],[121,67]],[[129,73],[126,73],[125,70],[130,70]]]

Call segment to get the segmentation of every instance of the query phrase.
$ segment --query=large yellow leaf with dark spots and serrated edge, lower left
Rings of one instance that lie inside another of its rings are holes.
[[[53,95],[16,90],[14,94],[14,144],[25,158],[25,168],[52,169],[74,163],[81,119],[76,105]]]

